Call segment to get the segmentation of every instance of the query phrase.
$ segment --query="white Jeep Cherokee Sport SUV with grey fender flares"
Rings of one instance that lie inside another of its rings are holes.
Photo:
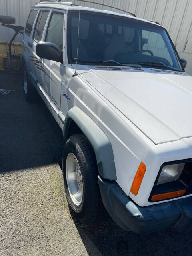
[[[24,37],[24,96],[40,94],[66,141],[66,198],[82,224],[105,208],[148,233],[192,218],[192,77],[162,26],[42,2]]]

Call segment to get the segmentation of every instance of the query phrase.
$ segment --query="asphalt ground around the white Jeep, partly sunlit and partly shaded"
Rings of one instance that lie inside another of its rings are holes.
[[[110,218],[80,226],[64,194],[62,147],[42,101],[28,104],[21,76],[0,72],[0,256],[192,255],[192,233],[140,236]]]

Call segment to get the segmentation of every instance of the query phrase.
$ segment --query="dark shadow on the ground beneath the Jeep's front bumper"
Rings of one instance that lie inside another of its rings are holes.
[[[76,228],[88,255],[102,256],[172,256],[192,255],[192,232],[178,233],[173,229],[138,235],[122,230],[109,217],[100,225]]]

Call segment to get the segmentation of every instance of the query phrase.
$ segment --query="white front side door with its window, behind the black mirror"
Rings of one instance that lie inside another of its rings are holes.
[[[51,11],[46,31],[42,41],[56,44],[63,51],[64,12]],[[38,81],[50,98],[50,111],[59,123],[61,83],[64,74],[64,64],[53,60],[40,59],[42,68],[38,68]]]

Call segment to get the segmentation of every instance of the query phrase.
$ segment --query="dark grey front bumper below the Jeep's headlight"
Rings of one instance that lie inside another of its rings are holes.
[[[140,207],[115,182],[98,176],[104,206],[123,229],[147,234],[173,227],[178,232],[192,229],[192,197]]]

